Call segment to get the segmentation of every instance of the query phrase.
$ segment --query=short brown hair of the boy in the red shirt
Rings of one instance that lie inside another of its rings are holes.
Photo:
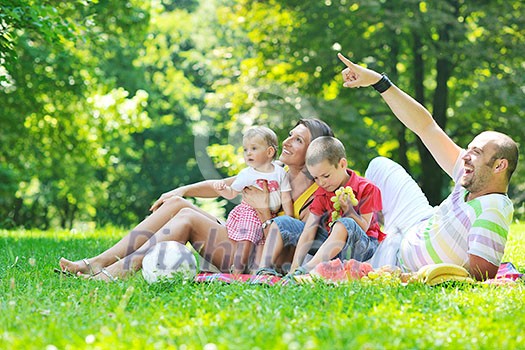
[[[341,141],[331,136],[316,138],[306,151],[306,165],[317,165],[325,160],[338,167],[339,161],[346,158],[345,146]]]

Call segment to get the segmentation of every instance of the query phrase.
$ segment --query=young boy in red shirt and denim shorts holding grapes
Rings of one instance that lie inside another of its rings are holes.
[[[382,209],[379,189],[347,169],[345,148],[333,137],[319,137],[310,144],[306,152],[306,167],[320,188],[310,205],[310,216],[297,242],[290,273],[309,272],[320,262],[336,257],[341,260],[370,259],[385,237],[375,215]],[[332,197],[339,188],[347,186],[352,188],[358,203],[352,206],[351,199],[345,200],[341,194],[336,200],[339,203],[336,207],[340,210],[333,214],[336,210],[335,198],[332,200]],[[303,265],[309,252],[314,256]]]

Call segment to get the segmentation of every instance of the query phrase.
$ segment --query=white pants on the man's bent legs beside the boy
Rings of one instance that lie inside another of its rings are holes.
[[[397,265],[397,254],[404,234],[417,223],[428,219],[433,207],[414,179],[396,162],[377,157],[372,159],[365,177],[381,191],[386,238],[370,259],[374,268]]]

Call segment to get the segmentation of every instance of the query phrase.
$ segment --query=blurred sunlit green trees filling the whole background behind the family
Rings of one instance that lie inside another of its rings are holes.
[[[246,126],[283,139],[301,117],[327,121],[357,171],[392,157],[438,203],[449,179],[373,89],[342,88],[336,53],[385,71],[460,145],[482,130],[523,144],[523,12],[503,0],[0,0],[0,226],[131,225],[165,191],[238,172]]]

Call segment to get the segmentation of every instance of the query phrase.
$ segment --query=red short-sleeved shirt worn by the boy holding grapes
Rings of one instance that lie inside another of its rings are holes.
[[[358,214],[369,214],[373,213],[372,220],[370,221],[370,226],[366,231],[366,234],[370,237],[377,238],[381,242],[386,235],[381,232],[379,223],[377,222],[376,213],[383,209],[381,204],[381,191],[369,180],[365,179],[354,173],[350,169],[346,169],[350,179],[343,186],[350,186],[354,191],[355,198],[358,201],[357,206],[354,207],[355,211]],[[328,213],[328,218],[326,220],[326,229],[330,232],[330,222],[332,221],[332,212],[335,211],[334,203],[330,200],[335,196],[335,192],[327,192],[322,187],[319,187],[314,193],[314,201],[310,205],[310,212],[317,216],[322,216],[325,213]],[[340,212],[342,215],[342,212]]]

